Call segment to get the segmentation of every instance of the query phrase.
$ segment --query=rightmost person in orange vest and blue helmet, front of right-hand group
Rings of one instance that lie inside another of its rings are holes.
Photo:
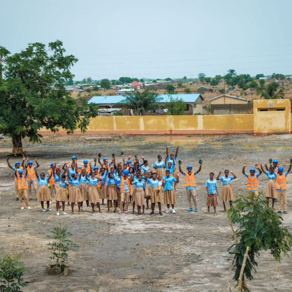
[[[276,191],[277,191],[277,197],[278,197],[278,214],[281,214],[281,200],[283,198],[283,213],[287,214],[287,182],[286,182],[286,176],[291,170],[292,166],[292,158],[290,159],[290,166],[288,170],[283,174],[284,169],[282,166],[278,168],[278,174],[276,177]]]

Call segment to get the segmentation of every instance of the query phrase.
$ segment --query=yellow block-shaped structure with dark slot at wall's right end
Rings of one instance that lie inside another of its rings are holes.
[[[277,111],[277,109],[284,109],[284,111]],[[289,99],[254,100],[255,135],[290,132],[291,104]]]

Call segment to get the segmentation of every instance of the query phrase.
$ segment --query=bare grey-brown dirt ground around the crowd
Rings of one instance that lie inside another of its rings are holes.
[[[157,154],[164,156],[165,145],[171,153],[180,145],[178,159],[183,168],[189,163],[194,170],[203,159],[202,171],[196,176],[198,213],[187,212],[189,208],[180,177],[176,192],[176,214],[145,216],[83,212],[73,216],[55,216],[41,212],[40,203],[33,200],[32,210],[20,210],[15,201],[13,172],[5,161],[11,151],[11,140],[0,140],[0,252],[19,254],[28,272],[30,282],[24,291],[229,291],[232,280],[232,257],[227,249],[233,244],[232,231],[220,202],[218,215],[206,213],[205,181],[213,171],[232,169],[238,176],[233,180],[235,195],[246,194],[246,178],[242,164],[251,167],[255,162],[267,163],[277,158],[287,169],[292,156],[291,135],[227,136],[124,136],[124,135],[70,135],[45,136],[42,144],[24,141],[30,158],[38,157],[40,171],[46,171],[51,162],[64,163],[76,155],[78,161],[92,160],[98,152],[111,157],[115,153],[121,161],[120,151],[144,155],[154,163]],[[19,160],[20,158],[17,158]],[[10,156],[14,164],[15,157]],[[259,178],[259,189],[265,192],[267,177]],[[283,225],[291,231],[292,222],[292,174],[287,176],[288,214],[283,214]],[[219,185],[221,195],[222,185]],[[35,198],[35,194],[33,194]],[[277,206],[277,205],[276,205]],[[132,206],[130,206],[130,210]],[[163,211],[165,211],[163,205]],[[69,207],[66,206],[69,213]],[[68,225],[73,241],[79,249],[69,251],[68,264],[73,273],[68,276],[49,276],[45,267],[50,252],[47,243],[52,227],[57,222]],[[290,253],[291,256],[291,253]],[[291,258],[283,257],[276,262],[269,253],[261,253],[257,274],[247,281],[251,291],[291,291]],[[279,280],[276,280],[278,267]]]

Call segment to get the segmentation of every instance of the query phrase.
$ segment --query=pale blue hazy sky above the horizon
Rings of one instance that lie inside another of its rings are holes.
[[[75,79],[292,74],[292,0],[0,0],[0,45],[60,39]]]

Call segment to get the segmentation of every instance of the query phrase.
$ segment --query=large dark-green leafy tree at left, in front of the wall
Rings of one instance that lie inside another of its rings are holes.
[[[73,79],[70,68],[77,59],[65,51],[60,40],[48,48],[29,44],[13,55],[0,47],[0,133],[12,138],[14,148],[22,148],[24,137],[41,142],[41,128],[85,132],[89,118],[97,115],[94,104],[84,99],[77,104],[66,92],[64,84]]]

